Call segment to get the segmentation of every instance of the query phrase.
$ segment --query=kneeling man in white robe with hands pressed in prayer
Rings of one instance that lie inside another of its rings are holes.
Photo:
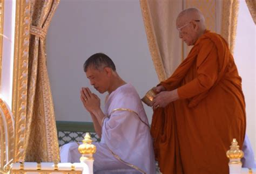
[[[103,53],[85,61],[84,71],[99,93],[108,92],[104,113],[100,99],[89,88],[82,88],[80,99],[91,114],[96,133],[101,137],[93,155],[95,173],[156,173],[149,123],[136,89],[123,81],[112,60]],[[61,162],[79,162],[77,143],[60,150]]]

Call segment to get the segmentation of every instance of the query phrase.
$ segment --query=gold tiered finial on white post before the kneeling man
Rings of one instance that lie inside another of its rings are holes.
[[[91,136],[86,133],[84,136],[83,144],[80,144],[78,151],[82,154],[82,157],[93,159],[92,155],[96,152],[96,146],[92,144]]]

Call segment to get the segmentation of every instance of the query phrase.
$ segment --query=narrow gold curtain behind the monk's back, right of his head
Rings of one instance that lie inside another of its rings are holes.
[[[237,34],[239,0],[223,1],[222,6],[223,8],[220,34],[226,39],[228,45],[230,46],[230,51],[233,53],[235,36]]]

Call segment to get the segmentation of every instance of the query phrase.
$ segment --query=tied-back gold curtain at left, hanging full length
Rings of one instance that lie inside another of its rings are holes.
[[[59,148],[46,68],[45,37],[59,0],[31,1],[25,161],[58,162]]]

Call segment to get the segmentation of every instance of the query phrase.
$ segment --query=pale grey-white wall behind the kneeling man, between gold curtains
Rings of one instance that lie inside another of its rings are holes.
[[[90,86],[83,64],[96,52],[112,58],[119,75],[132,83],[140,98],[158,83],[139,1],[62,0],[53,16],[46,46],[56,120],[91,121],[79,92],[81,87]],[[100,95],[102,104],[104,96]],[[151,123],[152,109],[144,108]]]

